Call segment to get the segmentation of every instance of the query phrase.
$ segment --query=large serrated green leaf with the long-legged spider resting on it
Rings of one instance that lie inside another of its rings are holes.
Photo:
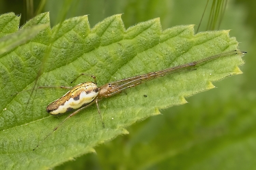
[[[48,13],[29,20],[25,27],[33,24],[49,25]],[[93,29],[87,16],[70,18],[53,29],[45,28],[0,58],[1,169],[48,169],[94,152],[94,146],[127,134],[126,126],[160,114],[159,109],[186,103],[184,97],[213,88],[213,81],[241,73],[238,65],[243,61],[242,53],[223,56],[197,69],[127,89],[100,101],[105,128],[96,105],[92,105],[67,120],[33,151],[68,116],[50,116],[45,110],[66,90],[35,88],[32,92],[35,82],[36,86],[71,86],[74,78],[87,73],[95,75],[102,86],[237,50],[238,42],[228,33],[209,31],[194,35],[193,25],[162,31],[159,18],[125,29],[121,15],[106,18]],[[81,77],[76,84],[86,81],[91,79]],[[15,95],[16,92],[20,93]]]

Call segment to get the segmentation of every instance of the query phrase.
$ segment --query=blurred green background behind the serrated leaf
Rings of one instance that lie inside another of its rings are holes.
[[[113,14],[123,14],[125,27],[160,18],[162,29],[199,25],[205,0],[0,0],[0,14],[29,18],[50,12],[53,27],[65,18],[89,14],[91,27]],[[224,2],[225,3],[225,2]],[[199,31],[207,31],[212,1]],[[244,56],[242,75],[215,82],[214,88],[187,99],[185,105],[161,110],[162,115],[127,127],[96,147],[96,153],[76,158],[56,169],[256,169],[256,1],[230,0],[218,29],[230,29]]]

